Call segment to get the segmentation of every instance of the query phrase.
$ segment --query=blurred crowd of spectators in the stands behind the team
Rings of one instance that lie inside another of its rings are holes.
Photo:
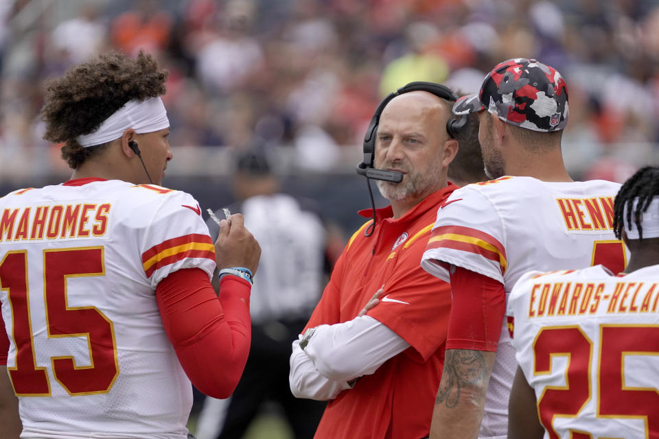
[[[43,81],[108,49],[170,71],[174,147],[257,141],[334,171],[386,93],[412,80],[477,91],[497,62],[526,57],[566,78],[577,178],[656,163],[656,0],[0,0],[0,173],[65,167],[41,139]]]

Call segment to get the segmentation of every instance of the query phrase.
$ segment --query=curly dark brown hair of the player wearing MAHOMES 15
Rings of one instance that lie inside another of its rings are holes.
[[[66,142],[62,158],[76,169],[105,149],[105,145],[82,147],[76,137],[97,130],[101,123],[130,100],[165,94],[167,71],[159,69],[152,56],[140,51],[132,60],[111,51],[72,67],[46,84],[41,116],[43,136],[54,143]]]

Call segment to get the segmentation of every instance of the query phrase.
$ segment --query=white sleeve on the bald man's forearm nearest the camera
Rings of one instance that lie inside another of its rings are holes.
[[[370,316],[316,328],[303,353],[325,377],[346,382],[371,375],[410,344]]]

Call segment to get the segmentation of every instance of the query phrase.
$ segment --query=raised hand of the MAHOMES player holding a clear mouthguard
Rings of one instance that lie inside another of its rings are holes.
[[[248,268],[256,274],[261,257],[261,246],[245,228],[245,219],[240,213],[231,215],[231,223],[220,222],[220,235],[215,241],[215,261],[218,270],[230,267]]]

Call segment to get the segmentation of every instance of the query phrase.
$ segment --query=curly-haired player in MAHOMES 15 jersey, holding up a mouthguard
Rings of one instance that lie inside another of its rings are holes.
[[[159,186],[166,79],[111,53],[47,86],[73,176],[0,199],[3,438],[185,438],[191,381],[226,398],[240,379],[260,248],[241,215],[213,245],[196,200]]]

